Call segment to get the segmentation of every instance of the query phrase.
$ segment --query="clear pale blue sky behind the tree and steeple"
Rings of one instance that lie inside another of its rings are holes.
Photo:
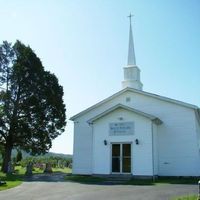
[[[0,40],[57,75],[69,119],[122,89],[130,12],[144,91],[200,106],[200,0],[0,0]],[[68,120],[51,151],[72,148]]]

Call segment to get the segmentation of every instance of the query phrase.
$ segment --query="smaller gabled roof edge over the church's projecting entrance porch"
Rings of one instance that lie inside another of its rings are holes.
[[[155,117],[153,115],[150,115],[150,114],[147,114],[147,113],[144,113],[140,110],[136,110],[134,108],[131,108],[129,106],[126,106],[126,105],[123,105],[123,104],[117,104],[109,109],[107,109],[106,111],[94,116],[93,118],[91,118],[90,120],[88,120],[88,123],[93,123],[94,121],[100,119],[101,117],[104,117],[106,116],[107,114],[113,112],[114,110],[118,109],[118,108],[122,108],[122,109],[125,109],[125,110],[128,110],[128,111],[131,111],[131,112],[134,112],[138,115],[141,115],[143,117],[146,117],[152,121],[154,121],[156,124],[162,124],[162,121],[158,118],[158,117]]]

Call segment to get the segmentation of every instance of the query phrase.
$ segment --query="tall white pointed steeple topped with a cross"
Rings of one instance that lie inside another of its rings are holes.
[[[131,17],[133,15],[129,15],[130,18],[130,30],[129,30],[129,45],[128,45],[128,63],[127,66],[124,67],[124,81],[122,81],[122,87],[130,87],[137,90],[142,90],[142,83],[140,81],[140,69],[136,65],[135,59],[135,50],[134,50],[134,42],[133,42],[133,33],[132,33],[132,24]]]

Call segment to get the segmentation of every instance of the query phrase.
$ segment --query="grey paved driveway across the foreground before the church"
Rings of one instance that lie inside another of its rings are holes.
[[[59,175],[58,175],[59,176]],[[167,200],[177,195],[197,193],[195,185],[89,185],[36,178],[1,191],[1,200]]]

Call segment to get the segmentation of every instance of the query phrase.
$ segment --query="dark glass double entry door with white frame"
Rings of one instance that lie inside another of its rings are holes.
[[[131,143],[112,144],[112,173],[131,173]]]

